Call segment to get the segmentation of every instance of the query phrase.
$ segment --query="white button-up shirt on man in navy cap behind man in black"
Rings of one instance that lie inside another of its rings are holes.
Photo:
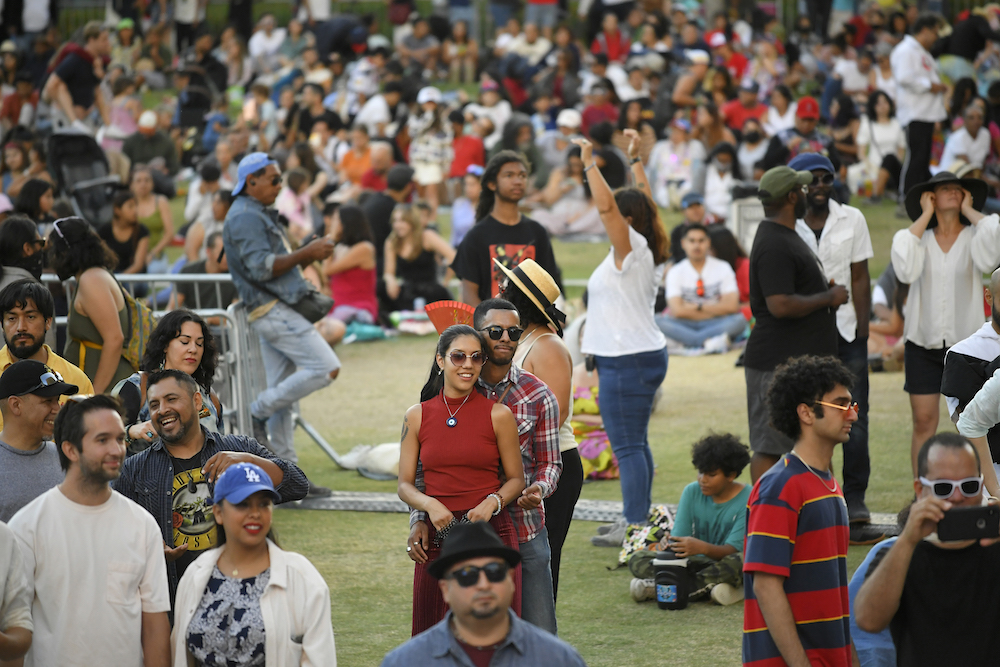
[[[864,262],[875,256],[872,238],[868,233],[865,215],[853,206],[844,206],[834,200],[829,201],[830,214],[826,225],[816,241],[816,233],[805,220],[795,221],[795,231],[805,241],[809,249],[816,253],[823,264],[823,273],[829,280],[847,287],[847,303],[837,309],[837,331],[848,343],[858,335],[858,314],[854,308],[854,292],[851,285],[851,264]]]

